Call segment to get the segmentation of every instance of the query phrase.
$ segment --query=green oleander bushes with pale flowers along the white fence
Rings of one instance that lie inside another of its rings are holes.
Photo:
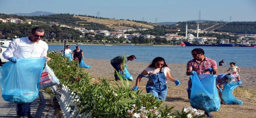
[[[69,61],[58,52],[49,52],[52,58],[48,62],[61,85],[68,86],[80,100],[75,103],[80,114],[91,118],[202,118],[203,113],[197,113],[192,108],[172,112],[174,107],[161,107],[163,101],[157,101],[152,94],[142,94],[142,91],[132,91],[129,81],[122,79],[121,85],[111,85],[107,79],[94,78],[79,68],[77,61]],[[123,65],[125,66],[125,65]],[[74,108],[74,105],[70,105]]]

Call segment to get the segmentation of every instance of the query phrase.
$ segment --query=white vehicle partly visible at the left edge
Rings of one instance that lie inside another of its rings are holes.
[[[11,40],[0,39],[0,65],[2,63],[9,61],[9,60],[3,58],[3,52],[6,51],[6,49],[8,48],[10,43],[11,43]]]

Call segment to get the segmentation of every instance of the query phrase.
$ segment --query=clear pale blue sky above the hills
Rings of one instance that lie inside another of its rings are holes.
[[[0,0],[0,13],[83,14],[138,21],[256,21],[256,0]]]

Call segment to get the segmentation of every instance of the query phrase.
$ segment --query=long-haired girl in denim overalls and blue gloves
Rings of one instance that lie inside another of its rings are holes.
[[[149,75],[149,76],[146,76]],[[167,95],[167,80],[175,82],[176,86],[180,85],[180,81],[173,78],[170,74],[170,69],[162,57],[156,57],[152,63],[137,77],[136,84],[133,87],[133,91],[138,90],[139,82],[142,77],[147,77],[146,91],[151,92],[152,96],[158,97],[158,100],[165,100]]]

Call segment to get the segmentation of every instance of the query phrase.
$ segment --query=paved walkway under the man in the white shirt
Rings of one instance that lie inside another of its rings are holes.
[[[23,118],[17,116],[16,106],[16,103],[6,102],[0,96],[0,118]],[[51,97],[43,90],[39,91],[39,96],[30,106],[33,118],[53,118],[54,116],[54,105],[51,105]]]

